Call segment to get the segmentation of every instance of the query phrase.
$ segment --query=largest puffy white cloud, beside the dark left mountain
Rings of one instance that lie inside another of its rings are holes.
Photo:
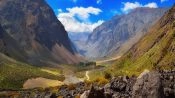
[[[95,23],[89,21],[90,15],[98,15],[102,12],[98,8],[88,7],[74,7],[67,8],[68,12],[62,12],[58,14],[58,19],[65,26],[65,29],[71,33],[84,33],[92,32],[94,28],[101,25],[103,20],[99,20]],[[78,19],[77,19],[78,18]]]

